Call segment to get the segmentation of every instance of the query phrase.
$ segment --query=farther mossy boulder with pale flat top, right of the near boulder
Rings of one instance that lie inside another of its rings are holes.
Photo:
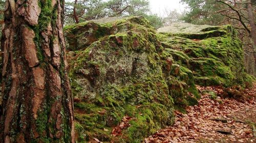
[[[200,85],[245,85],[242,43],[231,25],[173,23],[158,30],[158,39],[180,65],[190,69]]]

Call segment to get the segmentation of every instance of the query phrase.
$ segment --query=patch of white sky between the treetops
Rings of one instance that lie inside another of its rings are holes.
[[[186,6],[180,3],[180,0],[148,0],[152,13],[157,13],[159,16],[164,16],[165,10],[177,10],[182,12],[186,10]]]

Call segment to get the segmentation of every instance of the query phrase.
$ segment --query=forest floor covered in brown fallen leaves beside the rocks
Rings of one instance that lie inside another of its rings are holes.
[[[221,87],[197,88],[201,93],[199,104],[187,107],[186,113],[175,111],[175,124],[145,138],[145,143],[256,142],[256,84],[242,92]],[[204,91],[218,96],[203,94]]]

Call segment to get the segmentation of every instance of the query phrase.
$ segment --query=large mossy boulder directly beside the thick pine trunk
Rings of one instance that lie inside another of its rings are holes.
[[[197,104],[193,73],[174,64],[143,17],[89,21],[65,33],[78,142],[140,142],[172,125],[174,108]],[[130,126],[112,133],[125,116]]]

